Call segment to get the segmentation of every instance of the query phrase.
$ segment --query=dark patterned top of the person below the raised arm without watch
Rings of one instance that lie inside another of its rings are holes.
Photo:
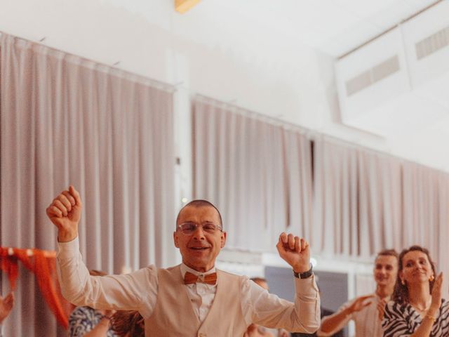
[[[69,336],[82,337],[100,323],[104,316],[90,307],[76,307],[69,317]],[[109,328],[107,337],[117,335]]]

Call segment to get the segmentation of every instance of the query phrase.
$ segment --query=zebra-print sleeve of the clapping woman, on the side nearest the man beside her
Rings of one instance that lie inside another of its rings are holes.
[[[411,329],[412,327],[409,324],[415,324],[416,322],[411,319],[409,314],[403,306],[394,301],[389,301],[385,305],[384,318],[382,319],[384,337],[410,336],[415,329]]]

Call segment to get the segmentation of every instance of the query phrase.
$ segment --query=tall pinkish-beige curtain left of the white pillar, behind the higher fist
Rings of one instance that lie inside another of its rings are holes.
[[[45,209],[70,183],[88,267],[173,263],[172,88],[7,34],[0,47],[1,246],[55,249]],[[20,270],[5,336],[65,336],[36,284]]]

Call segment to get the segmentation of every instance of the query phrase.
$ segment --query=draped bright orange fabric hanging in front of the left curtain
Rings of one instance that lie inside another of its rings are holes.
[[[12,255],[10,255],[12,253]],[[41,249],[8,249],[0,247],[0,268],[8,275],[11,289],[15,290],[18,278],[18,260],[33,272],[37,284],[48,307],[55,315],[59,324],[65,329],[69,326],[69,310],[71,305],[62,298],[58,277],[56,275],[55,251],[43,251]]]

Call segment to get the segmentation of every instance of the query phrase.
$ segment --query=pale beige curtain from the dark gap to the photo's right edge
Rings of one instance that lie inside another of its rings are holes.
[[[370,261],[420,244],[447,274],[447,173],[326,137],[314,143],[315,251]]]

